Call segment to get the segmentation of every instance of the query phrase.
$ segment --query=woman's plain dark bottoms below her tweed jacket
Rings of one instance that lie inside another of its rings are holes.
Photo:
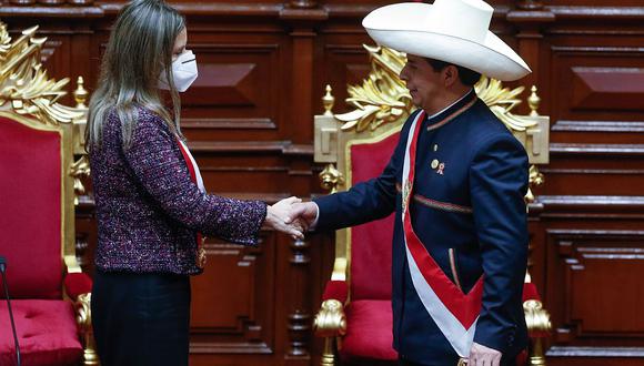
[[[91,307],[102,366],[188,366],[189,276],[97,271]]]

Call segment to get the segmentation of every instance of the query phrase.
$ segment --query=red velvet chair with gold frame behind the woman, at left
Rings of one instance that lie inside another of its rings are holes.
[[[36,28],[11,42],[0,62],[0,255],[22,365],[97,365],[90,324],[91,279],[76,258],[73,134],[84,111],[59,104],[40,64]],[[77,140],[78,141],[78,140]],[[4,288],[0,365],[16,364]]]

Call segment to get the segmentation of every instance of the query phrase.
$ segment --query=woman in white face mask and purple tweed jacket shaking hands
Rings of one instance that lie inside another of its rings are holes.
[[[99,243],[92,322],[103,366],[188,365],[190,281],[200,233],[256,245],[284,223],[291,197],[266,206],[209,195],[179,129],[179,91],[197,79],[184,19],[162,0],[128,3],[90,101],[88,150]],[[160,89],[169,90],[173,113]],[[201,252],[201,254],[200,254]]]

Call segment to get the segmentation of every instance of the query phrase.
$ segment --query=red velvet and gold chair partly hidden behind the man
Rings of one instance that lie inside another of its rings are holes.
[[[362,87],[349,88],[348,102],[356,109],[333,115],[333,98],[328,87],[323,98],[326,112],[315,116],[315,161],[328,163],[320,176],[322,186],[332,192],[348,190],[382,172],[400,128],[412,111],[411,98],[398,77],[404,54],[385,48],[365,48],[372,57],[372,72]],[[476,85],[480,98],[530,146],[531,163],[544,164],[549,159],[549,119],[536,114],[536,94],[530,100],[533,115],[510,112],[519,102],[514,96],[522,90],[503,89],[500,82],[487,79]],[[531,181],[541,180],[534,166]],[[532,194],[526,197],[532,199]],[[334,268],[314,321],[316,336],[325,338],[322,365],[380,365],[398,359],[392,348],[392,233],[393,214],[336,232]],[[550,317],[527,275],[524,301],[533,353],[530,357],[522,355],[519,362],[545,365],[542,339],[547,336]]]

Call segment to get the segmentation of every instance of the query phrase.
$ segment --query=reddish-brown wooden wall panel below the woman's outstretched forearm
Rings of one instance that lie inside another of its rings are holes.
[[[208,241],[208,267],[192,281],[192,342],[195,354],[274,352],[274,237],[259,247]]]

